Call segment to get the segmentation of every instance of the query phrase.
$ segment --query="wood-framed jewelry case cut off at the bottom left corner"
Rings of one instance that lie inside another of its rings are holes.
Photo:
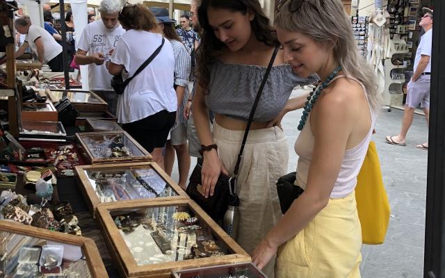
[[[0,277],[108,277],[89,238],[0,220]]]

